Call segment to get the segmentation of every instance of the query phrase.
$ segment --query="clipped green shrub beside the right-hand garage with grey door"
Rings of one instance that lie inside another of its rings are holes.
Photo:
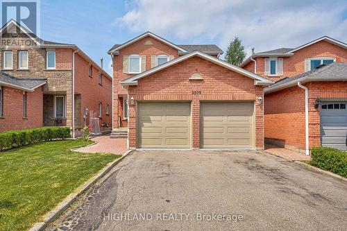
[[[347,178],[347,152],[335,148],[315,147],[310,164]]]

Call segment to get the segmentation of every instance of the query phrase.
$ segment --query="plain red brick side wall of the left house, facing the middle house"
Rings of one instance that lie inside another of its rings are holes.
[[[83,110],[88,108],[94,112],[98,112],[98,104],[102,103],[101,123],[106,122],[112,126],[112,79],[110,76],[103,75],[102,85],[99,84],[99,76],[101,69],[93,65],[92,76],[89,75],[89,67],[92,65],[88,60],[85,60],[81,55],[75,55],[75,94],[81,97],[80,109],[81,112],[76,113],[76,126],[84,125]],[[75,103],[76,105],[76,103]],[[110,113],[106,114],[106,105],[109,105]],[[87,117],[89,124],[89,117]]]

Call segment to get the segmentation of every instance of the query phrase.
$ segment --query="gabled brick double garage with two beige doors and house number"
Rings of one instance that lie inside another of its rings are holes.
[[[130,148],[264,148],[271,80],[193,51],[120,83]]]

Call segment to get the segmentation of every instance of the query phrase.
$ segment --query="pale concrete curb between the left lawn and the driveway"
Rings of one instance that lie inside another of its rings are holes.
[[[62,202],[60,202],[54,209],[49,211],[48,213],[44,214],[43,221],[35,223],[29,231],[41,231],[46,228],[46,225],[48,223],[51,223],[54,221],[62,212],[64,212],[74,201],[78,198],[78,196],[81,196],[87,189],[90,189],[100,178],[105,176],[106,173],[108,173],[116,164],[121,162],[121,160],[126,157],[129,153],[131,153],[133,150],[128,150],[119,159],[108,163],[103,169],[99,171],[99,173],[96,173],[92,178],[87,180],[83,183],[80,187],[78,187],[73,193],[69,194]]]

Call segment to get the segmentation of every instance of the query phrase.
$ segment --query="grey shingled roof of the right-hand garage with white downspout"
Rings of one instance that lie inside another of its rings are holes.
[[[307,83],[311,81],[340,81],[347,80],[347,62],[332,62],[330,65],[319,69],[307,71],[303,74],[291,78],[282,78],[282,80],[273,83],[264,88],[264,93],[277,92],[287,87],[293,87],[298,82]]]

